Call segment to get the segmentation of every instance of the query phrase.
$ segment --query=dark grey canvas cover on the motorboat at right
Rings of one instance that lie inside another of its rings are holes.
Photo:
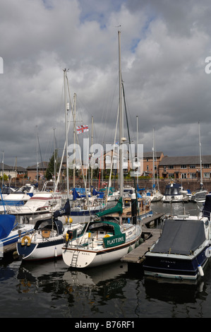
[[[193,254],[205,241],[203,220],[172,220],[164,222],[162,235],[151,250],[159,254]]]

